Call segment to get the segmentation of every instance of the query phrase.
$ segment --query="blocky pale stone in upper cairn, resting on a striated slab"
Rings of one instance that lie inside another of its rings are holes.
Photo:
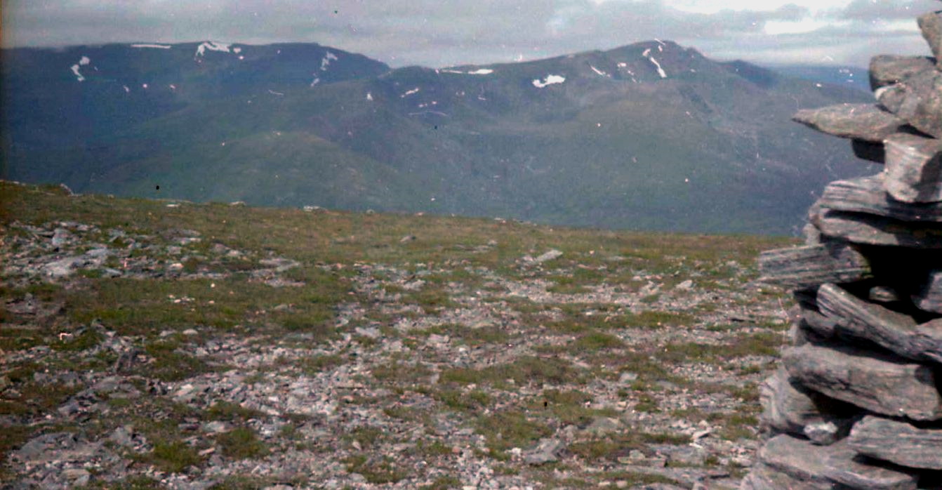
[[[942,139],[900,133],[885,139],[884,147],[886,192],[903,203],[942,201]]]

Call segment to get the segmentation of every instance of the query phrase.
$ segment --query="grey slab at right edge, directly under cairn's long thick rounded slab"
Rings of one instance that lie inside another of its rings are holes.
[[[868,416],[853,425],[847,443],[861,454],[900,466],[942,469],[942,429]]]

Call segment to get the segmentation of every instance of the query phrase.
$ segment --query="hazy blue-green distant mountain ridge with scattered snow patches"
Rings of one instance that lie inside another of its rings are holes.
[[[671,41],[439,70],[314,43],[3,60],[4,175],[76,191],[789,233],[869,171],[789,121],[864,94]]]

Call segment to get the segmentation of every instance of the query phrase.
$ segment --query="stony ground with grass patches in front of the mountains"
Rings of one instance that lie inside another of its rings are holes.
[[[2,183],[4,488],[734,488],[788,240]]]

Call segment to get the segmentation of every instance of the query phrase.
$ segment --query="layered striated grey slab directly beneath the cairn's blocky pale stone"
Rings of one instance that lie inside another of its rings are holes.
[[[889,177],[878,173],[868,177],[836,180],[824,187],[817,206],[836,211],[866,213],[899,221],[942,223],[942,203],[904,203],[886,193]]]

